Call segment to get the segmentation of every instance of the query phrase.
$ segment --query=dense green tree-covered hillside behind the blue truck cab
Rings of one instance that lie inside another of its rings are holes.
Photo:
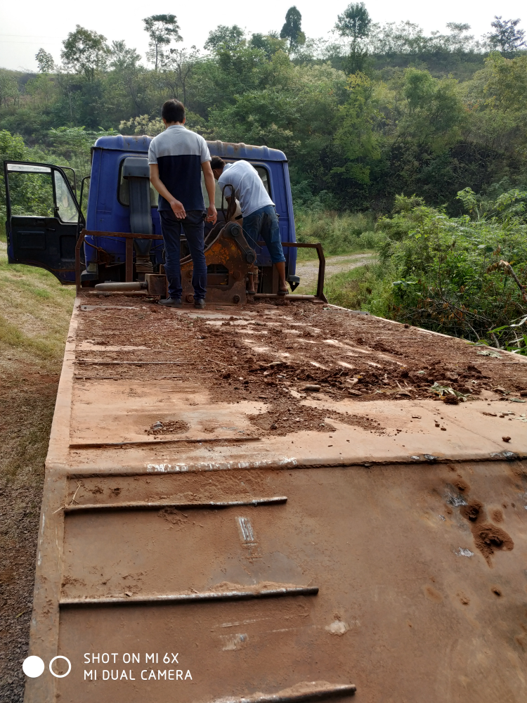
[[[375,24],[358,3],[325,41],[306,38],[292,7],[280,32],[220,26],[204,52],[183,45],[174,15],[143,23],[147,67],[125,41],[77,25],[60,64],[41,49],[37,75],[0,70],[0,129],[85,170],[96,133],[157,134],[175,97],[206,138],[284,150],[297,205],[386,212],[403,193],[455,215],[463,188],[527,187],[519,20],[496,17],[478,41],[455,23],[427,36]]]

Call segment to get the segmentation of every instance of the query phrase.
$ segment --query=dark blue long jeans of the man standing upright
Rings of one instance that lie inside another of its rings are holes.
[[[169,282],[169,297],[181,298],[181,226],[187,238],[188,250],[194,264],[192,285],[194,299],[204,298],[207,293],[207,262],[203,252],[204,216],[203,210],[188,210],[187,217],[178,220],[171,210],[160,210],[161,233],[164,243],[164,273]]]

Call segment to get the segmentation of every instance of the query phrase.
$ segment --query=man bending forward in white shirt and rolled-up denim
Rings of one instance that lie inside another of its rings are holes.
[[[258,172],[248,161],[226,164],[219,156],[212,157],[212,173],[219,186],[225,187],[228,201],[234,196],[240,201],[243,217],[243,233],[247,243],[256,249],[256,242],[263,239],[271,254],[271,261],[278,271],[278,295],[287,294],[285,280],[285,256],[278,228],[275,204],[269,198]],[[232,187],[231,187],[232,186]],[[254,276],[249,276],[249,293],[254,293]]]

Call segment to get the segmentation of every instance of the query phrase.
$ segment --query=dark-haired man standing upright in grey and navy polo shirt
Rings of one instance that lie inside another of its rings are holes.
[[[207,293],[207,263],[205,262],[204,220],[216,222],[214,207],[215,183],[210,166],[207,142],[199,134],[184,127],[185,108],[178,100],[167,100],[161,110],[164,132],[150,142],[148,163],[150,183],[160,194],[157,209],[160,212],[164,243],[164,271],[169,283],[169,297],[160,304],[181,307],[181,265],[179,243],[181,225],[187,238],[194,269],[194,307],[205,307]],[[209,209],[201,188],[203,171],[209,194]]]

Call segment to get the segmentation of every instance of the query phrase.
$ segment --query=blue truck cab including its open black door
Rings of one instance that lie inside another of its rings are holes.
[[[141,240],[143,234],[161,234],[157,193],[148,180],[149,136],[103,136],[92,148],[91,175],[84,179],[77,200],[72,169],[51,164],[4,162],[6,184],[6,233],[11,264],[41,266],[61,283],[75,283],[74,249],[83,229],[89,232],[137,233],[134,238],[134,278],[157,273],[164,261],[162,240]],[[294,217],[285,154],[266,146],[209,141],[212,156],[226,162],[249,161],[275,203],[280,236],[294,243]],[[88,186],[89,184],[89,186]],[[82,200],[86,202],[86,217]],[[202,180],[206,207],[207,191]],[[216,208],[224,221],[221,190],[216,183]],[[224,203],[226,208],[226,203]],[[205,236],[212,224],[205,224]],[[186,255],[182,232],[181,257]],[[296,247],[284,249],[287,276],[293,280]],[[259,292],[274,292],[273,266],[266,247],[256,251],[260,269]],[[85,237],[81,281],[85,287],[125,279],[125,240]]]

